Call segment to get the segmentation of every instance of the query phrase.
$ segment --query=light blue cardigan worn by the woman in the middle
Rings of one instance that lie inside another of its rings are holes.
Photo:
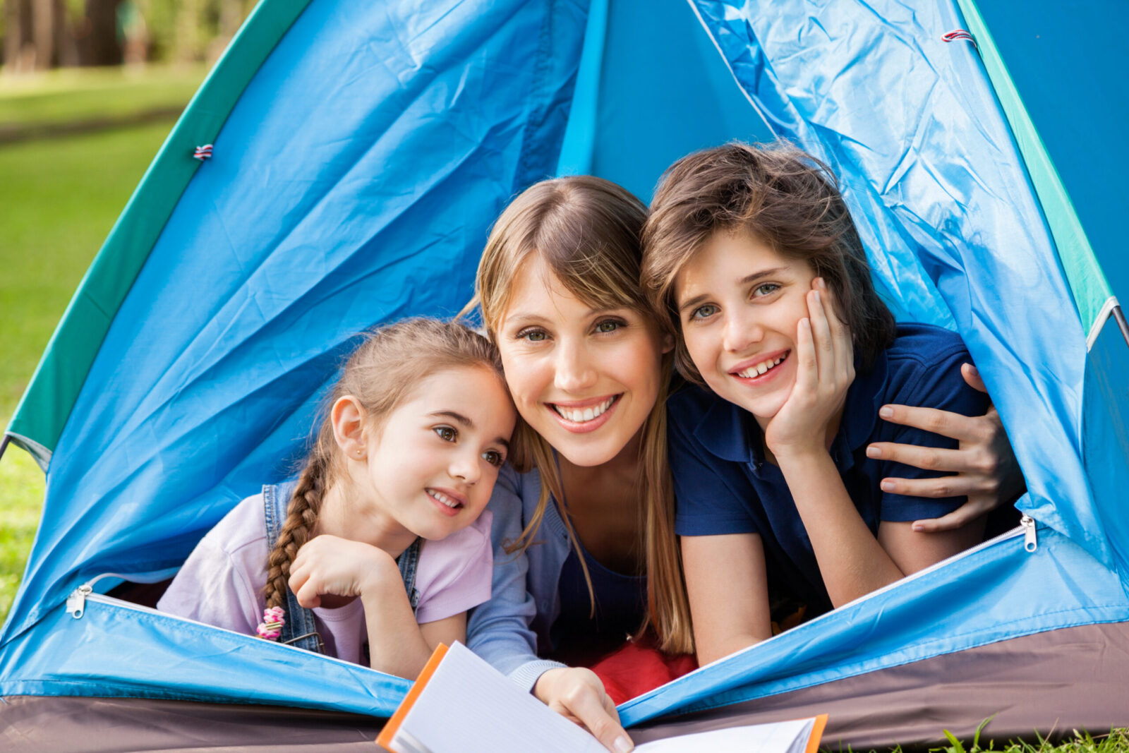
[[[560,614],[561,568],[569,552],[568,531],[550,500],[533,544],[524,553],[506,553],[537,507],[541,474],[517,473],[509,465],[498,473],[487,509],[493,511],[495,569],[489,602],[471,610],[466,646],[527,690],[559,662],[537,658],[549,651],[549,628]]]

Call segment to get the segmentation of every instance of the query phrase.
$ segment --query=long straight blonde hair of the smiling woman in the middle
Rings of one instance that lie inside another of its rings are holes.
[[[481,307],[487,332],[491,339],[497,339],[514,292],[514,281],[522,265],[536,256],[560,284],[584,304],[593,308],[631,308],[646,321],[655,322],[663,335],[671,335],[668,323],[654,315],[639,287],[639,242],[646,218],[647,208],[642,202],[603,178],[577,175],[531,186],[514,199],[495,222],[479,263],[474,299],[464,313]],[[673,488],[666,454],[666,395],[672,370],[673,359],[669,353],[664,354],[658,397],[641,429],[638,487],[642,500],[644,540],[640,543],[651,577],[648,578],[648,615],[640,632],[653,624],[664,649],[685,653],[693,650],[685,589],[665,593],[651,586],[656,571],[682,571],[674,539]],[[518,421],[513,447],[510,458],[515,467],[518,471],[536,467],[542,479],[536,511],[513,549],[530,545],[552,497],[571,544],[579,553],[576,531],[564,509],[564,493],[552,447],[524,421]],[[588,567],[583,557],[579,559],[592,596]]]

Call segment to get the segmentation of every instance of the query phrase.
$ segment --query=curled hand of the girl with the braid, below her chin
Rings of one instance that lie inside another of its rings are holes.
[[[370,544],[321,535],[306,542],[290,566],[290,590],[306,608],[322,605],[322,595],[357,597],[395,578],[403,590],[396,561]],[[340,606],[340,603],[333,604]]]

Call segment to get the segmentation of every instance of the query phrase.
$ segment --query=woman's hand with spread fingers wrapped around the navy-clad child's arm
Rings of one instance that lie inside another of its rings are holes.
[[[964,364],[961,375],[971,387],[987,393],[974,366]],[[882,441],[867,447],[867,457],[954,474],[937,479],[883,479],[884,491],[909,497],[969,498],[948,515],[916,520],[914,531],[936,533],[960,528],[997,507],[1009,505],[1023,493],[1026,487],[1023,472],[995,406],[989,406],[983,415],[968,417],[933,408],[883,405],[881,415],[884,421],[931,431],[960,443],[957,449]]]

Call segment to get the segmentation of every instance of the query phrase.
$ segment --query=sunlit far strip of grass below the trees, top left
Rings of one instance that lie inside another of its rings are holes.
[[[205,72],[203,65],[119,67],[0,77],[0,125],[129,120],[182,108]]]

